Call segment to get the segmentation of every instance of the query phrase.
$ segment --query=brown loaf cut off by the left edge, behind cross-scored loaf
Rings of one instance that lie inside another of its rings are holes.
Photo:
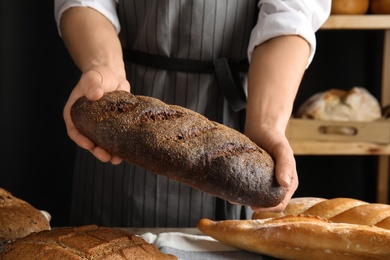
[[[0,188],[0,245],[50,229],[50,215]]]

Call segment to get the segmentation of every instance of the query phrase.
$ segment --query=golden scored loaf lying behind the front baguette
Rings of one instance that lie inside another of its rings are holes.
[[[278,216],[291,214],[318,216],[337,223],[375,225],[390,230],[390,205],[352,198],[293,198]],[[269,217],[262,212],[252,215],[252,219]]]

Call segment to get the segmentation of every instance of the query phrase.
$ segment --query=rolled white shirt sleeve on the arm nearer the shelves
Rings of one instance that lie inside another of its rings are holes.
[[[331,0],[260,0],[259,17],[248,46],[250,60],[254,48],[277,36],[299,35],[310,44],[313,60],[316,50],[315,32],[328,19]]]

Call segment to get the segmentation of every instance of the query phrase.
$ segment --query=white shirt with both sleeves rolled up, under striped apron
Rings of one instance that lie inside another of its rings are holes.
[[[119,33],[117,2],[118,0],[54,0],[57,26],[60,24],[62,13],[68,8],[88,6],[106,16]],[[249,41],[248,58],[251,58],[257,45],[271,38],[282,35],[299,35],[306,39],[311,47],[308,66],[316,50],[315,32],[328,19],[331,3],[331,0],[259,0],[260,13]]]

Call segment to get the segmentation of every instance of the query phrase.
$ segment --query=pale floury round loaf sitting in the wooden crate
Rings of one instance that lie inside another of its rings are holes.
[[[330,89],[307,99],[295,117],[332,121],[374,121],[382,116],[379,101],[363,87]]]

